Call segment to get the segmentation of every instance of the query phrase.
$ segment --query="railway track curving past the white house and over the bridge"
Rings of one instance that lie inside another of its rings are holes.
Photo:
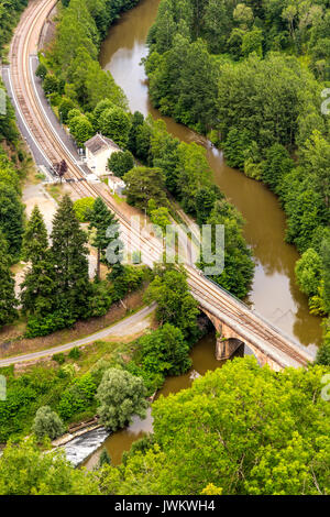
[[[38,41],[44,21],[53,10],[56,1],[38,0],[38,2],[30,3],[14,34],[10,61],[15,102],[25,121],[25,125],[29,127],[29,131],[47,161],[54,164],[65,160],[68,165],[66,176],[77,180],[72,183],[70,186],[77,191],[78,196],[102,197],[109,209],[117,216],[122,231],[122,240],[125,243],[130,242],[131,246],[136,246],[136,249],[143,244],[144,261],[148,265],[153,265],[154,262],[160,260],[162,254],[161,242],[151,235],[142,235],[138,229],[134,229],[129,219],[111,201],[110,196],[102,193],[97,185],[81,182],[81,179],[86,179],[85,172],[65,146],[56,129],[52,127],[40,102],[34,81],[32,80],[33,70],[30,56],[35,51],[34,46]],[[252,333],[257,340],[265,342],[268,346],[273,346],[275,351],[304,366],[312,360],[307,352],[301,350],[298,344],[295,344],[279,329],[276,329],[272,323],[212,284],[196,267],[187,265],[186,270],[190,290],[201,300],[201,305],[202,300],[205,300],[220,315],[223,315],[223,317],[239,326],[242,329],[242,338],[244,338],[244,332],[246,336]]]

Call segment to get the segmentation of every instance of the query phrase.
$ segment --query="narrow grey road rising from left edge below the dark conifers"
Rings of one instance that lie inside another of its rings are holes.
[[[11,364],[33,361],[42,358],[48,358],[52,356],[54,353],[67,352],[68,350],[74,349],[75,346],[90,344],[95,341],[109,338],[109,336],[124,338],[128,336],[135,334],[150,327],[150,316],[154,310],[155,305],[151,305],[139,310],[139,312],[136,312],[135,315],[130,316],[129,318],[125,318],[119,321],[118,323],[114,323],[112,327],[107,327],[106,329],[102,329],[99,332],[88,336],[87,338],[78,339],[76,341],[72,341],[70,343],[62,344],[59,346],[53,346],[52,349],[41,350],[40,352],[32,352],[24,355],[16,355],[15,358],[2,359],[0,360],[0,367],[10,366]]]

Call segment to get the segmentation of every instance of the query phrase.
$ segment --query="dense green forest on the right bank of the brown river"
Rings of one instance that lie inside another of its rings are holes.
[[[330,311],[329,2],[162,0],[148,34],[154,106],[206,133],[227,163],[264,182],[314,314]]]

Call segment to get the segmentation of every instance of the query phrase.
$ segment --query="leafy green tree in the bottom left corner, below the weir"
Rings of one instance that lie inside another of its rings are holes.
[[[99,494],[96,481],[74,469],[64,451],[45,454],[32,439],[9,442],[0,458],[1,495]]]

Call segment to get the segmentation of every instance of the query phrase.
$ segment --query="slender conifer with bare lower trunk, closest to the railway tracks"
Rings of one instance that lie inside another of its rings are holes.
[[[97,278],[100,279],[101,258],[105,260],[107,248],[112,241],[118,240],[119,237],[118,221],[100,197],[95,200],[92,206],[89,229],[96,230],[91,244],[98,250]],[[111,235],[109,234],[109,229],[111,229]]]

